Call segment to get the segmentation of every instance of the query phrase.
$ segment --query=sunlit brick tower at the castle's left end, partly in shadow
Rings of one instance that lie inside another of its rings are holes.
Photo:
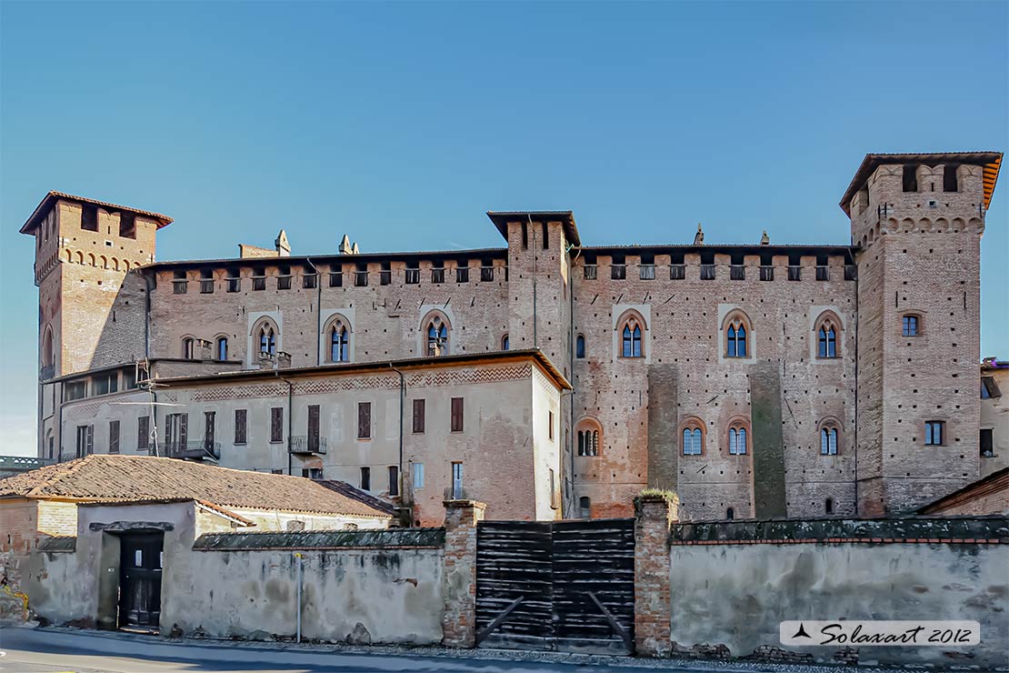
[[[49,192],[21,227],[35,237],[40,456],[51,452],[51,417],[62,397],[60,385],[46,381],[143,357],[146,287],[129,271],[154,260],[156,232],[171,222]]]

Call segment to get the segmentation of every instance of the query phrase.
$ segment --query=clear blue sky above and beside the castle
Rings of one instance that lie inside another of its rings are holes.
[[[159,259],[239,241],[847,243],[870,151],[1007,148],[1006,2],[0,2],[0,453],[34,451],[48,190],[166,213]],[[1009,172],[983,355],[1009,357]]]

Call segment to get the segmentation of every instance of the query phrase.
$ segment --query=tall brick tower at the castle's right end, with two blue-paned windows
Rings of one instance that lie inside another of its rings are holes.
[[[858,500],[978,478],[981,236],[1002,154],[868,154],[840,207],[858,264]]]

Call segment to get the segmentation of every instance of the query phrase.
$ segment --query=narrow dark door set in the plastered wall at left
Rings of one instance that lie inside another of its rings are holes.
[[[161,615],[162,533],[119,540],[119,627],[156,629]]]

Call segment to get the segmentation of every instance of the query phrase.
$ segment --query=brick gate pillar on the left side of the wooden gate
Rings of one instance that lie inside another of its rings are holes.
[[[487,506],[475,500],[445,500],[445,571],[442,592],[442,645],[476,645],[476,523]]]

